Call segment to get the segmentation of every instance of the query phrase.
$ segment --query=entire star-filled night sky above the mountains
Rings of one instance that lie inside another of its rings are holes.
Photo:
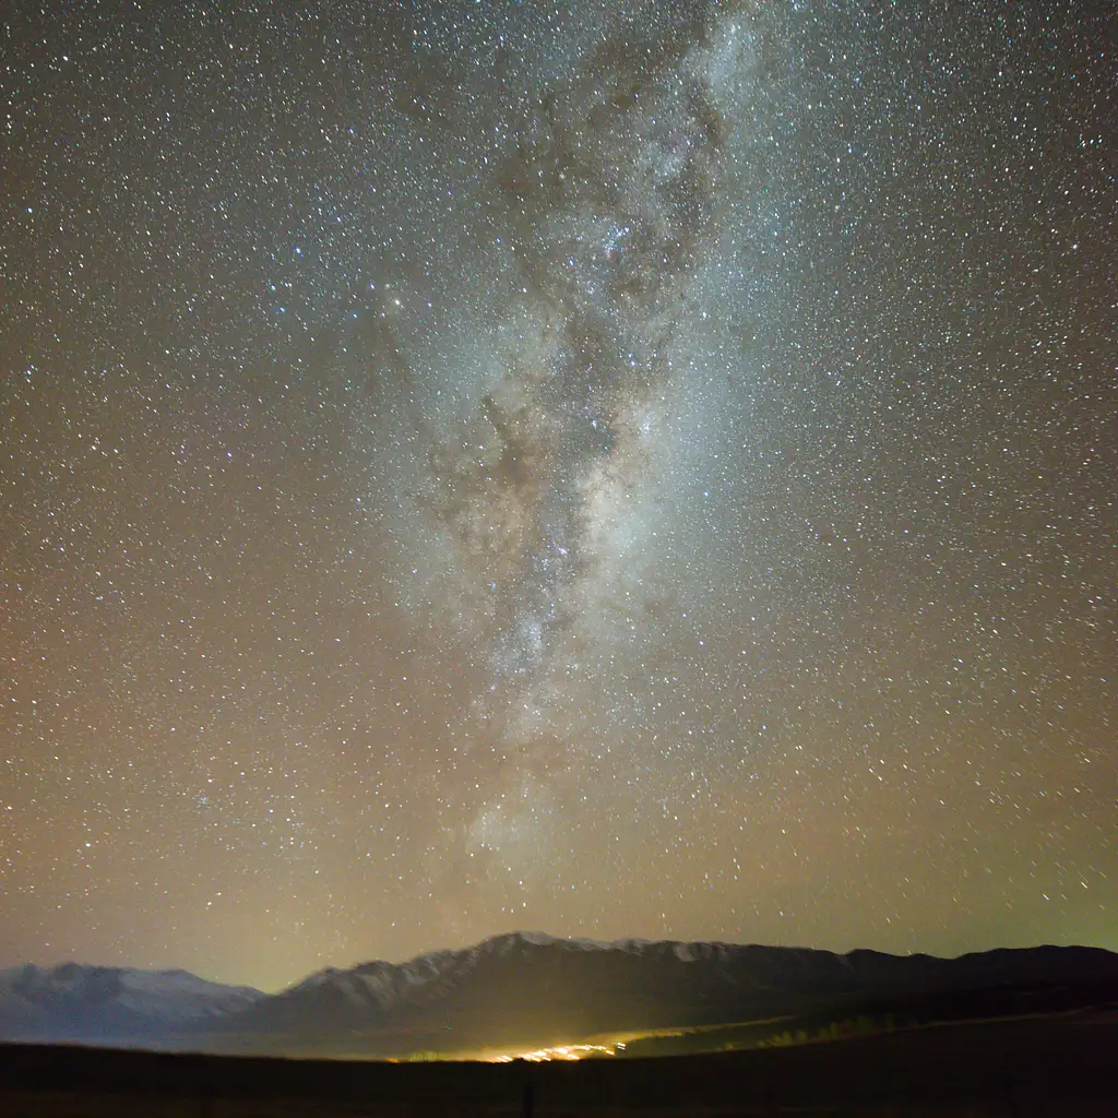
[[[0,965],[1118,949],[1112,4],[0,44]]]

